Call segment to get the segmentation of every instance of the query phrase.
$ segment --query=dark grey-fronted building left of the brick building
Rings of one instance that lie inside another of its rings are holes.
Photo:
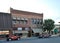
[[[8,35],[12,29],[11,14],[0,12],[0,37]]]

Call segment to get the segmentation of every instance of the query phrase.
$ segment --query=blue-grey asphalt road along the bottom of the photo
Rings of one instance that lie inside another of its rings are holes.
[[[41,38],[41,39],[20,39],[16,41],[0,40],[0,43],[60,43],[60,37]]]

